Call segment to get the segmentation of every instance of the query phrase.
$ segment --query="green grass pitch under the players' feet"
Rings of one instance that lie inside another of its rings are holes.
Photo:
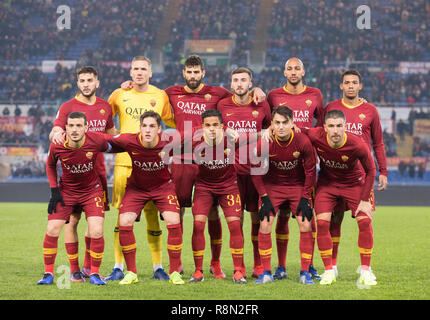
[[[133,299],[133,300],[426,300],[430,299],[430,208],[428,207],[378,207],[374,216],[374,254],[372,269],[378,285],[371,289],[357,287],[357,266],[360,263],[357,248],[358,228],[349,213],[345,215],[339,249],[339,278],[331,286],[303,286],[297,282],[300,261],[297,223],[290,220],[290,241],[287,255],[288,279],[271,284],[256,285],[250,277],[253,258],[250,241],[250,218],[246,213],[245,264],[248,283],[236,285],[232,282],[233,263],[229,250],[229,234],[223,221],[223,249],[221,264],[227,277],[215,280],[209,273],[210,248],[206,238],[205,281],[182,286],[151,279],[152,263],[146,242],[145,221],[135,225],[137,240],[137,266],[140,282],[131,286],[120,286],[110,282],[107,286],[97,287],[88,281],[71,283],[64,288],[64,273],[58,272],[61,266],[68,266],[63,244],[59,248],[55,263],[55,284],[38,286],[36,282],[43,274],[42,242],[46,230],[47,204],[45,203],[1,203],[0,204],[0,252],[1,300],[33,299]],[[106,213],[105,254],[101,266],[102,275],[108,275],[114,264],[113,228],[116,209]],[[194,271],[191,253],[192,216],[188,210],[184,217],[184,246],[182,260],[185,267],[184,280],[188,281]],[[168,270],[166,250],[167,231],[163,226],[163,266]],[[86,221],[79,226],[80,263],[83,262],[83,234]],[[207,235],[207,234],[206,234]],[[272,266],[276,267],[276,245],[273,241]],[[315,249],[314,264],[322,273],[323,265],[318,249]],[[61,268],[60,268],[61,269]],[[61,278],[63,276],[63,278]]]

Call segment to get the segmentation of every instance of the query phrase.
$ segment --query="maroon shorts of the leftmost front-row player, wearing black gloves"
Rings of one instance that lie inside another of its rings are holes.
[[[98,190],[87,196],[71,197],[70,195],[61,192],[64,203],[57,203],[56,211],[48,215],[48,220],[66,220],[66,223],[70,220],[70,215],[80,213],[81,210],[85,212],[85,216],[88,217],[102,217],[105,216],[104,203],[103,203],[103,191]]]

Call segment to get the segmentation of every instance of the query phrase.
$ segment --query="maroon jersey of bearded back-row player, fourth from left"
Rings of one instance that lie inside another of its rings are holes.
[[[240,105],[234,100],[234,96],[232,96],[218,102],[217,109],[222,114],[225,127],[234,129],[239,134],[246,136],[257,134],[263,128],[269,127],[272,119],[270,106],[267,101],[256,104],[254,99],[252,99],[250,103]],[[254,141],[256,141],[256,137]],[[250,149],[253,150],[253,147],[250,147],[249,144],[244,144],[236,150],[236,169],[238,174],[249,174]],[[243,161],[240,161],[240,155],[245,156]],[[242,163],[245,161],[247,162]]]

